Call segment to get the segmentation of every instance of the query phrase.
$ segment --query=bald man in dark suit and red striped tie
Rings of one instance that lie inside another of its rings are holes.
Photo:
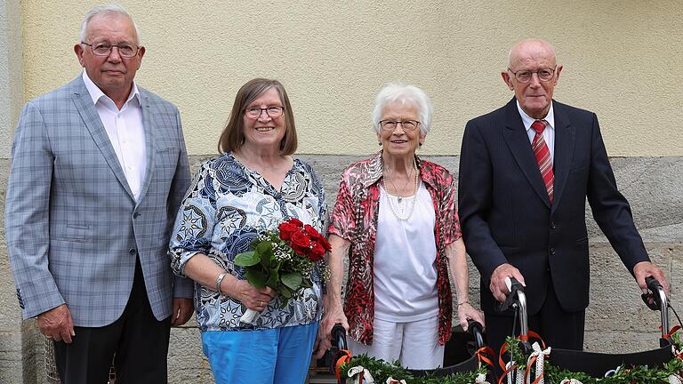
[[[468,122],[462,139],[459,212],[468,253],[481,275],[481,306],[494,348],[512,329],[494,313],[505,277],[526,284],[529,327],[555,348],[583,349],[589,301],[585,201],[639,286],[667,289],[633,224],[594,113],[552,100],[562,66],[542,40],[510,51],[502,79],[515,97]]]

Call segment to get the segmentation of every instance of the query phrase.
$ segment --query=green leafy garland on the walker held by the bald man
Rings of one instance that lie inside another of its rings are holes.
[[[675,345],[680,345],[678,333],[674,333],[673,341]],[[508,337],[505,342],[510,346],[510,356],[512,356],[513,361],[517,362],[518,369],[525,371],[528,356],[525,356],[521,348],[519,348],[519,340]],[[583,384],[668,384],[669,376],[683,372],[683,361],[675,356],[669,363],[664,364],[663,367],[647,368],[645,366],[635,366],[600,379],[593,378],[583,372],[560,370],[552,365],[551,360],[552,351],[550,351],[550,358],[544,362],[543,373],[545,381],[553,384],[559,384],[562,380],[566,379],[579,380]]]

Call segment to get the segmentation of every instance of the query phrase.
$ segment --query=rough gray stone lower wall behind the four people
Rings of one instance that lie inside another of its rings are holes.
[[[192,156],[193,170],[207,156]],[[309,161],[325,182],[328,205],[332,207],[342,169],[358,156],[301,156]],[[426,157],[444,164],[457,174],[458,157]],[[615,175],[631,208],[647,250],[664,269],[671,283],[671,303],[681,297],[683,279],[683,201],[681,184],[683,158],[613,158]],[[0,196],[9,162],[0,162]],[[0,211],[3,207],[0,207]],[[587,212],[590,216],[591,212]],[[658,313],[639,299],[639,289],[612,251],[599,228],[589,220],[591,241],[591,306],[586,320],[585,348],[600,352],[652,349],[657,346]],[[44,340],[34,321],[20,321],[12,275],[4,247],[4,226],[0,229],[0,383],[44,383]],[[478,273],[470,264],[470,296],[478,300]],[[673,324],[673,319],[671,319]],[[171,382],[212,382],[211,370],[202,354],[194,319],[175,328],[169,352]]]

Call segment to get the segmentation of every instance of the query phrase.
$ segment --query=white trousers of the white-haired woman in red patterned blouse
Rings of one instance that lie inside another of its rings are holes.
[[[409,369],[436,369],[444,365],[444,346],[438,345],[438,317],[410,323],[374,319],[373,344],[366,346],[349,340],[353,356],[381,358],[398,362]]]

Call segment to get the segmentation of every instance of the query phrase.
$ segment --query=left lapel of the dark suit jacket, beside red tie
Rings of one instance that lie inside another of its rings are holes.
[[[538,170],[534,151],[531,149],[531,143],[526,135],[522,117],[519,116],[514,98],[506,106],[505,116],[506,127],[502,132],[505,142],[508,144],[515,162],[526,176],[526,180],[529,181],[536,194],[541,197],[543,203],[550,208],[550,197],[548,197],[548,191],[545,189],[541,171]]]

